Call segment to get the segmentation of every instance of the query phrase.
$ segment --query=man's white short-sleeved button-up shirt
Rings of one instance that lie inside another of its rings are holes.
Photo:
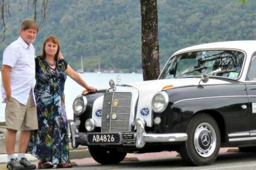
[[[32,44],[28,46],[19,37],[4,50],[3,65],[12,67],[10,72],[11,97],[26,105],[30,90],[35,87],[35,48]],[[3,84],[1,91],[3,99],[5,99]]]

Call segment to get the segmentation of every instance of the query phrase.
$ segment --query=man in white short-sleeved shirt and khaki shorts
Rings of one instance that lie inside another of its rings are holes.
[[[3,53],[2,95],[6,102],[5,145],[8,169],[35,169],[25,158],[31,130],[38,128],[35,86],[35,48],[32,45],[38,32],[34,20],[26,18],[21,23],[20,37]],[[18,157],[15,157],[16,132],[20,132]]]

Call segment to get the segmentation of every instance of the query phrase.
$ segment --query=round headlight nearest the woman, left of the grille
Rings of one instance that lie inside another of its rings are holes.
[[[85,110],[87,106],[87,99],[85,96],[78,96],[76,99],[74,99],[73,102],[73,111],[74,115],[81,115]]]

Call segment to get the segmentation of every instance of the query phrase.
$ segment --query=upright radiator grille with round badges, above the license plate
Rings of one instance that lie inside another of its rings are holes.
[[[102,132],[129,132],[132,93],[106,93],[102,108]]]

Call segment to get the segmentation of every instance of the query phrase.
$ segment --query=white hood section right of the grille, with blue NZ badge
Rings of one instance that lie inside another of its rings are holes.
[[[151,121],[151,100],[154,94],[161,91],[165,86],[171,85],[172,88],[182,86],[197,86],[201,78],[180,78],[180,79],[158,79],[153,81],[141,81],[126,83],[126,85],[132,86],[139,92],[139,99],[137,103],[137,114],[136,118],[143,118],[146,121],[147,126],[152,126]],[[220,80],[220,79],[209,79],[208,82],[202,85],[209,84],[230,84],[231,82]],[[148,113],[145,114],[145,111]]]

